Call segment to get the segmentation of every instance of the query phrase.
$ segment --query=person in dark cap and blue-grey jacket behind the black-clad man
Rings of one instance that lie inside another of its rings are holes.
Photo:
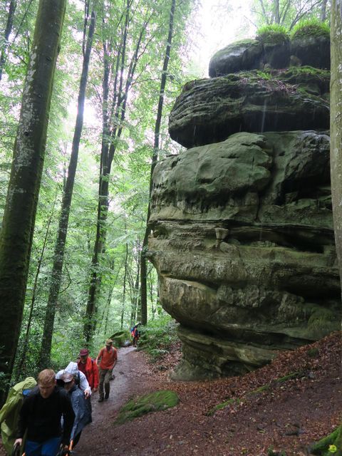
[[[86,404],[86,398],[81,389],[75,384],[75,378],[71,373],[63,373],[61,380],[64,383],[64,390],[71,398],[73,405],[73,413],[75,413],[75,420],[73,421],[73,429],[71,430],[71,445],[70,449],[76,447],[78,440],[80,440],[83,427],[91,423],[91,416]]]

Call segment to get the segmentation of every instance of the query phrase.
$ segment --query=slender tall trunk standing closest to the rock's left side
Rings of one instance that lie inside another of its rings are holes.
[[[158,160],[160,123],[162,121],[162,105],[164,103],[164,93],[165,93],[166,78],[167,78],[167,66],[168,66],[169,60],[170,60],[175,8],[176,8],[176,0],[171,0],[169,34],[167,36],[165,58],[164,58],[163,66],[162,66],[162,78],[160,81],[160,93],[159,93],[159,100],[158,100],[157,118],[155,120],[155,141],[154,141],[154,145],[153,145],[152,163],[151,163],[151,171],[150,171],[150,191],[149,191],[150,197],[151,197],[151,193],[152,193],[152,174],[153,174],[153,170],[155,169],[155,165],[157,165],[157,160]],[[150,210],[151,209],[150,209],[150,202],[149,202],[148,207],[147,207],[146,229],[145,229],[144,239],[142,241],[141,259],[140,259],[140,305],[141,305],[141,323],[143,325],[147,324],[146,252],[147,252],[147,247],[148,247],[148,245],[147,245],[148,244],[148,235],[150,234],[150,227],[148,225],[148,220],[150,219]]]

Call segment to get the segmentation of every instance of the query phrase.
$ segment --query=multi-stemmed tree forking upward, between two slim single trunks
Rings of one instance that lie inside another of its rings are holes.
[[[138,6],[143,14],[138,14]],[[145,5],[136,0],[125,0],[123,11],[104,11],[103,15],[103,93],[102,93],[102,146],[98,186],[98,217],[91,263],[90,286],[84,324],[84,337],[89,343],[96,326],[97,300],[100,289],[100,257],[105,249],[106,221],[110,202],[109,183],[115,152],[125,127],[128,95],[135,81],[138,63],[147,51],[153,35],[148,26],[156,16],[155,2]],[[113,24],[112,17],[117,18]],[[111,19],[109,20],[108,17]],[[117,35],[113,36],[115,27]],[[108,33],[109,31],[109,33]]]

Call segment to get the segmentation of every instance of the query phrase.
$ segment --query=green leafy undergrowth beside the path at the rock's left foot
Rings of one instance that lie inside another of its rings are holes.
[[[151,362],[157,362],[170,353],[173,344],[179,340],[177,327],[177,323],[170,316],[162,316],[151,321],[140,330],[138,349],[145,351]]]

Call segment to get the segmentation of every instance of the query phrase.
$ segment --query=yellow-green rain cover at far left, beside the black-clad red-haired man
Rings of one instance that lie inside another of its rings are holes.
[[[31,393],[36,384],[37,382],[33,377],[28,377],[24,381],[16,383],[9,390],[6,403],[0,410],[1,440],[9,455],[11,455],[14,441],[16,440],[19,414],[24,398]]]

